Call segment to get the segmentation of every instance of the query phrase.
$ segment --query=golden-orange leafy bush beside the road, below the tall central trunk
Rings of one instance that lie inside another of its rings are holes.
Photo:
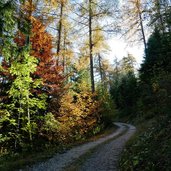
[[[63,95],[59,110],[59,135],[62,141],[73,140],[76,135],[84,136],[99,120],[100,102],[88,91],[70,91]]]

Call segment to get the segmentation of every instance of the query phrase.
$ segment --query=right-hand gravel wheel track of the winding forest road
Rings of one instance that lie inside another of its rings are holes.
[[[126,141],[135,133],[135,127],[126,125],[128,130],[118,138],[99,147],[93,153],[80,171],[117,171],[117,163]]]

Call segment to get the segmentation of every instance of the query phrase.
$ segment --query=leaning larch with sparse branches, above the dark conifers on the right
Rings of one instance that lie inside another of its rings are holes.
[[[145,32],[145,20],[147,18],[146,0],[129,0],[123,1],[122,13],[123,13],[123,23],[121,24],[125,27],[125,35],[128,39],[135,38],[137,35],[138,39],[143,41],[144,49],[147,49],[146,43],[146,32]],[[133,36],[134,35],[134,36]],[[135,41],[135,40],[133,40]],[[136,40],[137,41],[137,40]]]

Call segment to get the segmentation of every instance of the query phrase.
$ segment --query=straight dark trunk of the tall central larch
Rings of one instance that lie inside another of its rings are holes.
[[[90,57],[90,76],[91,90],[95,92],[94,71],[93,71],[93,42],[92,42],[92,1],[89,0],[89,57]]]

